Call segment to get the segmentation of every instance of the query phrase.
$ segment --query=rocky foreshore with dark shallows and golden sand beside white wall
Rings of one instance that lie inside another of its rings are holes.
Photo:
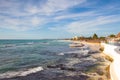
[[[73,41],[72,41],[73,42]],[[81,43],[80,41],[75,41]],[[82,42],[88,50],[78,48],[78,51],[64,53],[65,60],[47,65],[44,70],[13,78],[0,80],[110,80],[109,64],[105,55],[99,50],[99,43]]]

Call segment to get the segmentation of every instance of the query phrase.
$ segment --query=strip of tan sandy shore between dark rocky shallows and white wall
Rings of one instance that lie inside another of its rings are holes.
[[[101,46],[101,43],[98,43],[98,42],[86,42],[86,41],[73,41],[73,42],[87,44],[92,51],[98,52],[98,53],[96,53],[96,54],[94,54],[92,56],[95,57],[95,58],[102,57],[105,60],[98,67],[101,70],[105,71],[105,75],[101,76],[101,80],[102,79],[103,80],[111,80],[110,79],[110,64],[111,64],[111,59],[104,52],[100,51],[100,48],[103,48],[103,46]],[[100,76],[97,76],[97,77],[92,76],[92,78],[90,80],[97,80],[96,78],[99,78],[99,77]]]

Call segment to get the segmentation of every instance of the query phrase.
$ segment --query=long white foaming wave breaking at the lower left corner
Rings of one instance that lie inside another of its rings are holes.
[[[16,76],[27,76],[28,74],[36,73],[42,70],[43,68],[39,66],[39,67],[30,68],[30,69],[23,70],[23,71],[11,71],[11,72],[6,72],[6,73],[1,73],[0,78],[2,79],[2,78],[11,78],[11,77],[16,77]]]

